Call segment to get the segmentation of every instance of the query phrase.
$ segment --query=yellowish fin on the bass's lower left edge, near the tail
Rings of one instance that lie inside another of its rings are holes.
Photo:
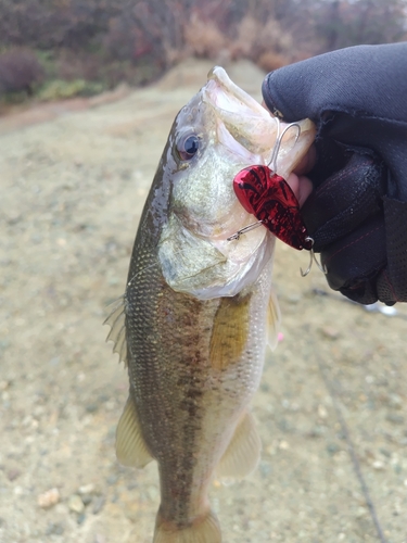
[[[116,430],[116,456],[120,464],[143,468],[153,458],[141,434],[135,404],[129,397]]]

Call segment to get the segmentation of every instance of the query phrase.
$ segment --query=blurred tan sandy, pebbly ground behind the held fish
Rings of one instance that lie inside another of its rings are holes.
[[[156,466],[120,467],[128,380],[102,327],[176,112],[211,65],[0,118],[0,541],[150,543]],[[263,74],[226,66],[259,99]],[[42,122],[41,122],[42,121]],[[258,469],[211,500],[228,543],[407,542],[407,311],[322,295],[278,244],[283,338],[253,402]]]

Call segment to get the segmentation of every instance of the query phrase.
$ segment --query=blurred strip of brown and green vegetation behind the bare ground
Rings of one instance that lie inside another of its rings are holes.
[[[144,85],[180,60],[270,71],[357,43],[407,39],[407,0],[0,0],[0,98]]]

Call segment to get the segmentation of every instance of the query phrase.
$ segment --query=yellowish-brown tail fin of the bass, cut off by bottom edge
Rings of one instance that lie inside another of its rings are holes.
[[[158,513],[153,543],[221,543],[218,519],[212,510],[208,510],[191,526],[177,529],[173,522],[161,519]]]

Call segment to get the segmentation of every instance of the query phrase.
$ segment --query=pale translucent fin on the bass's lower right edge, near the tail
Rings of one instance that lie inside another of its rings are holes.
[[[216,476],[227,481],[243,479],[257,466],[262,442],[250,413],[241,417],[232,439],[216,468]]]

